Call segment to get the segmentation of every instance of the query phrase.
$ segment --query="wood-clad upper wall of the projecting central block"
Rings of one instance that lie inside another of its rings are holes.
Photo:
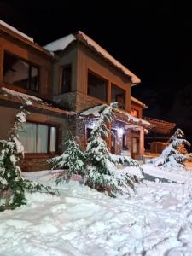
[[[61,67],[72,64],[72,92],[61,94]],[[125,90],[125,108],[131,110],[131,82],[124,75],[110,67],[82,44],[75,42],[54,65],[54,101],[63,107],[79,112],[102,101],[87,95],[88,70],[108,80],[108,103],[111,102],[111,83]]]

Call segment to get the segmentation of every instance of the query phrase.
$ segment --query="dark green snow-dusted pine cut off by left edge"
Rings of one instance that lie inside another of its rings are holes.
[[[57,193],[55,189],[45,187],[40,183],[32,183],[21,176],[18,161],[20,155],[24,155],[24,147],[16,131],[26,122],[26,114],[26,110],[21,106],[9,139],[0,141],[0,211],[15,209],[15,207],[26,204],[26,191]]]

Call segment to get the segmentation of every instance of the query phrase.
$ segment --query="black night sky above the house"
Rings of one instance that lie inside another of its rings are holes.
[[[40,45],[85,32],[142,79],[132,95],[143,114],[191,140],[192,1],[0,1],[0,19]]]

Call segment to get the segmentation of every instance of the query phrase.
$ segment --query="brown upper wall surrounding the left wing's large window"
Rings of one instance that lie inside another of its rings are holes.
[[[17,55],[26,61],[30,61],[37,65],[40,70],[39,92],[33,92],[15,86],[12,84],[3,83],[3,52],[7,50],[13,55]],[[11,90],[17,90],[33,96],[42,97],[44,99],[52,99],[53,94],[53,65],[50,59],[35,51],[34,49],[27,49],[24,44],[15,43],[15,40],[10,38],[0,37],[0,87],[7,87]]]

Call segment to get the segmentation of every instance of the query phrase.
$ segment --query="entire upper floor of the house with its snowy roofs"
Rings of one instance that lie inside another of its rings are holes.
[[[79,112],[119,102],[135,117],[145,105],[131,97],[140,79],[83,32],[44,47],[0,22],[0,86],[55,101]]]

